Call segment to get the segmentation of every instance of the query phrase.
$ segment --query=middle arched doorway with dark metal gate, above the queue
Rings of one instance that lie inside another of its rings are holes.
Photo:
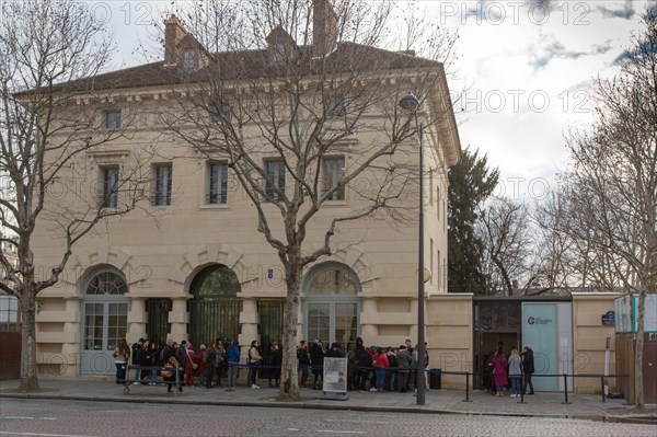
[[[189,287],[194,298],[187,301],[194,346],[216,338],[238,338],[242,299],[237,295],[241,290],[238,275],[223,264],[205,267],[194,277]]]

